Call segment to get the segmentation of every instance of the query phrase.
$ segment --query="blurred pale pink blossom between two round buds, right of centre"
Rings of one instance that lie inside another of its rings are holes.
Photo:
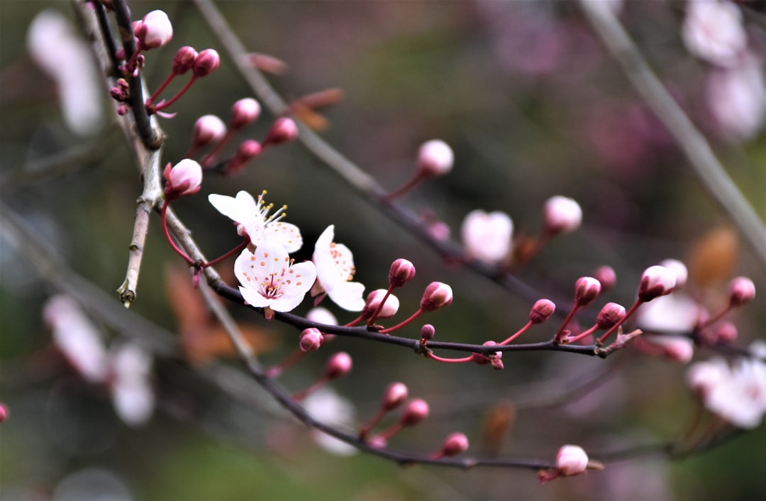
[[[471,211],[460,227],[466,253],[485,263],[497,263],[511,251],[513,221],[504,212]]]

